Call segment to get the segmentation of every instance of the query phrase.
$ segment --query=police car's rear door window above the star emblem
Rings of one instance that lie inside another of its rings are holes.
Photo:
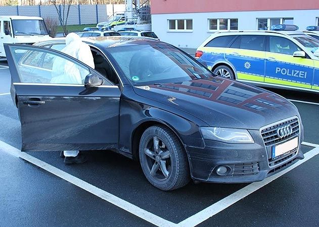
[[[231,45],[231,48],[265,51],[266,37],[264,35],[241,35]]]

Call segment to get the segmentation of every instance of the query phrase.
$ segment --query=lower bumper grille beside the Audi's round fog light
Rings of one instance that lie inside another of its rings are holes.
[[[239,177],[256,175],[259,173],[258,162],[231,164],[231,172],[227,174],[228,177]]]

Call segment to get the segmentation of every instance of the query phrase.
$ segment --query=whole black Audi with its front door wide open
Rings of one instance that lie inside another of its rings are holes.
[[[22,151],[114,150],[139,160],[161,190],[191,179],[261,181],[303,158],[303,126],[287,99],[215,77],[164,42],[85,42],[95,69],[60,52],[64,39],[5,45]],[[70,80],[74,72],[80,81]]]

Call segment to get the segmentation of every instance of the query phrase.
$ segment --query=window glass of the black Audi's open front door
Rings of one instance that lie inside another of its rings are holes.
[[[45,49],[11,47],[11,53],[22,83],[84,84],[90,73],[88,67]],[[47,61],[41,64],[44,55]]]

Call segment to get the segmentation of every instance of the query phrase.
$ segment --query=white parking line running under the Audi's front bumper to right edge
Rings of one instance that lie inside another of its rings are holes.
[[[215,214],[221,212],[222,210],[230,207],[234,203],[238,202],[239,200],[245,198],[246,196],[250,195],[251,193],[257,191],[258,189],[264,187],[265,185],[271,183],[272,181],[276,180],[277,178],[283,176],[284,174],[288,173],[292,169],[296,168],[297,166],[301,165],[302,163],[306,162],[307,160],[311,159],[315,155],[319,154],[319,147],[315,147],[314,149],[308,151],[304,154],[305,158],[299,160],[295,164],[289,166],[288,168],[284,169],[283,171],[279,172],[278,174],[272,175],[261,182],[254,182],[246,187],[238,190],[237,192],[219,200],[218,202],[212,204],[211,206],[205,208],[204,210],[196,213],[195,215],[185,219],[178,223],[179,226],[196,226],[203,221],[207,220],[208,218],[214,216]]]

